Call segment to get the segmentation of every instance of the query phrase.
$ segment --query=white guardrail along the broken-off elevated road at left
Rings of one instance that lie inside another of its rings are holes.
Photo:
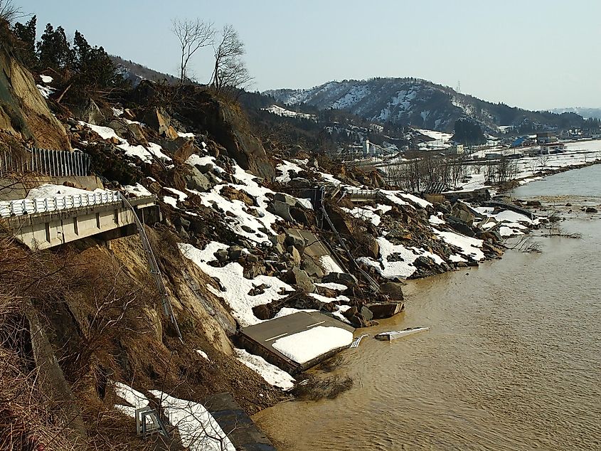
[[[33,213],[50,213],[105,203],[120,202],[118,191],[94,191],[93,193],[65,196],[26,198],[16,201],[0,201],[0,217],[23,216]]]

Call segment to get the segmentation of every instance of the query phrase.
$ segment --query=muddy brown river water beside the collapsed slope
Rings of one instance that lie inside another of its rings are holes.
[[[350,391],[255,415],[281,450],[601,450],[601,214],[580,212],[601,204],[601,165],[513,196],[553,204],[583,237],[538,231],[541,253],[410,282],[403,314],[357,334],[431,330],[369,336],[337,370]]]

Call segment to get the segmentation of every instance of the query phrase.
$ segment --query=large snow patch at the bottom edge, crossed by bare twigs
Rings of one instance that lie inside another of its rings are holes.
[[[174,398],[159,390],[150,393],[161,400],[169,423],[179,430],[181,444],[190,451],[235,451],[213,415],[201,403]]]

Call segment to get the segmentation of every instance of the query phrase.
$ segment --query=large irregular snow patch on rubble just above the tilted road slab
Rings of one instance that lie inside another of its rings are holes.
[[[269,304],[276,299],[282,299],[287,295],[282,292],[294,292],[287,283],[282,282],[277,277],[260,275],[254,279],[246,279],[243,275],[244,268],[238,262],[230,262],[224,267],[214,267],[208,265],[208,262],[216,260],[213,255],[217,250],[227,249],[228,246],[213,241],[206,245],[206,248],[199,250],[193,245],[180,243],[179,249],[184,257],[192,260],[206,274],[219,280],[223,290],[219,290],[213,285],[207,284],[207,289],[227,302],[232,309],[232,315],[240,324],[240,327],[258,324],[262,320],[255,317],[252,307],[262,304]],[[259,285],[265,285],[265,291],[260,295],[249,295],[248,293]]]

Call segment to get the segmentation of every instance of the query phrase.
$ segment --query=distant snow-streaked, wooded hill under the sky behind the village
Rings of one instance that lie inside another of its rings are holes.
[[[509,125],[517,132],[534,132],[567,129],[583,123],[583,118],[573,112],[558,115],[494,104],[416,78],[331,81],[305,90],[269,90],[265,94],[286,105],[345,110],[369,121],[441,132],[452,132],[455,121],[466,116],[477,120],[489,132]]]

